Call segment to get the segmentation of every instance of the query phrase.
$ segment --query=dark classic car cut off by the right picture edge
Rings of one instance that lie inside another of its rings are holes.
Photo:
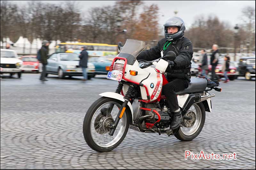
[[[243,57],[239,62],[239,76],[246,80],[255,78],[255,57]]]

